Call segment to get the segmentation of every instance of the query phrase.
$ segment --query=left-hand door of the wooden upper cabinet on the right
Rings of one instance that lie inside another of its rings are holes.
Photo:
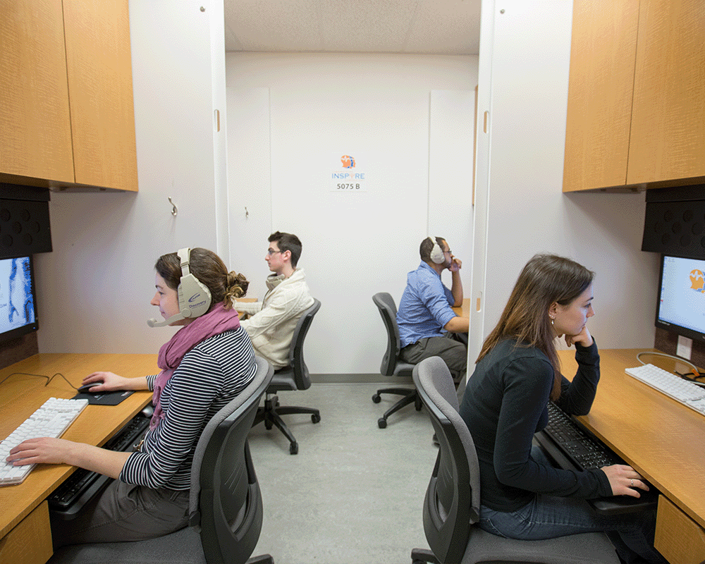
[[[573,3],[563,192],[627,178],[639,0]]]

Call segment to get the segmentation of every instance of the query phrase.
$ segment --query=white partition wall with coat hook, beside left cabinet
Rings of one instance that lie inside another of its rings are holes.
[[[147,327],[159,317],[149,305],[154,262],[180,247],[216,249],[219,239],[212,41],[224,47],[222,29],[210,31],[218,10],[222,27],[222,0],[130,2],[140,191],[52,193],[54,252],[35,262],[40,352],[156,353],[173,333]]]

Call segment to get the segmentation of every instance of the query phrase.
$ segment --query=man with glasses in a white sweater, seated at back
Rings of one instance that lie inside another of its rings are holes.
[[[274,369],[289,364],[289,345],[299,317],[313,305],[303,269],[296,268],[301,241],[291,233],[269,235],[264,260],[272,274],[267,276],[269,291],[261,302],[234,302],[238,312],[249,317],[240,320],[255,348],[255,354]],[[243,316],[244,317],[244,316]]]

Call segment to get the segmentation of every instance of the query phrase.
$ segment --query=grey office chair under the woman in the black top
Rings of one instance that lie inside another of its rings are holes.
[[[417,364],[413,378],[440,443],[423,509],[431,551],[415,548],[413,564],[618,564],[615,548],[603,533],[522,541],[498,537],[475,525],[480,505],[477,453],[458,414],[448,367],[440,357],[430,357]]]

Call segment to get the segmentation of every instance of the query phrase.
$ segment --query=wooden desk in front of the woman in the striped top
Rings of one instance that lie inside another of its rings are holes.
[[[128,377],[159,372],[157,355],[42,354],[0,369],[0,381],[13,372],[50,377],[60,372],[78,387],[84,376],[97,370]],[[0,384],[0,437],[8,436],[47,399],[75,396],[75,390],[61,376],[52,379],[48,386],[44,386],[45,382],[43,378],[17,374]],[[88,405],[63,434],[63,439],[100,446],[151,398],[152,392],[140,391],[119,405]],[[75,467],[67,465],[37,465],[22,484],[0,487],[0,562],[43,562],[51,556],[47,503],[42,502],[74,470]],[[31,539],[27,539],[28,535]],[[44,544],[38,539],[47,538],[49,556],[46,550],[40,556],[30,554],[35,548],[32,545]]]

